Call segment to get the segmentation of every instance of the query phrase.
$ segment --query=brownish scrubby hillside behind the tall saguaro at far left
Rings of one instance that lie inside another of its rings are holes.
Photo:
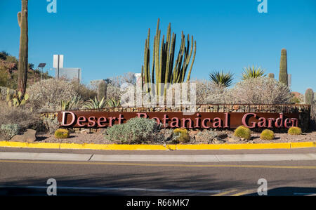
[[[41,70],[34,70],[29,63],[27,71],[27,86],[41,80]],[[48,72],[43,73],[43,79],[52,78]],[[18,87],[18,59],[8,53],[0,52],[0,86],[16,89]]]

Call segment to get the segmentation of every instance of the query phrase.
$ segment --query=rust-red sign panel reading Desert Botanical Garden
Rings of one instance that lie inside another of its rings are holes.
[[[240,125],[249,128],[282,129],[298,125],[298,113],[263,112],[102,112],[64,111],[58,112],[61,126],[74,128],[106,128],[124,124],[134,117],[156,120],[165,128],[185,129],[235,129]]]

